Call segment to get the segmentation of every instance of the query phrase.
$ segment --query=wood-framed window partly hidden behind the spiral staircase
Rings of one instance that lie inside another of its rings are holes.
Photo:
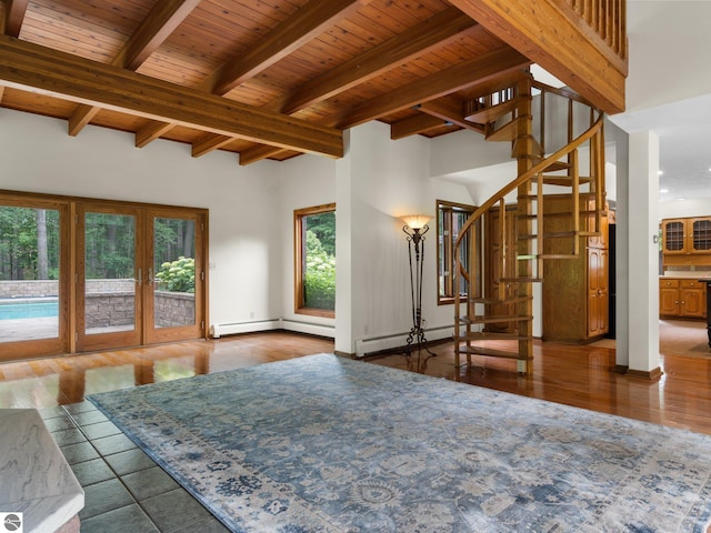
[[[442,305],[454,302],[454,243],[459,238],[460,229],[464,225],[469,217],[474,212],[477,208],[474,205],[465,205],[461,203],[445,202],[438,200],[437,202],[437,272],[438,272],[438,285],[439,291],[437,295],[437,303]],[[481,242],[481,224],[478,221],[474,228],[477,243]],[[479,249],[472,249],[471,242],[472,233],[469,232],[462,241],[460,248],[460,260],[463,268],[469,271],[470,262],[473,261],[475,265],[474,279],[472,280],[472,286],[474,288],[473,295],[480,295],[481,293],[481,265]],[[473,244],[477,247],[477,244]],[[463,280],[460,284],[460,295],[467,296],[467,285]]]

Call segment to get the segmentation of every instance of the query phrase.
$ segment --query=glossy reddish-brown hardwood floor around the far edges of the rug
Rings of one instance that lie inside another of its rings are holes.
[[[452,343],[432,346],[427,373],[454,379]],[[87,394],[332,352],[333,342],[287,332],[243,334],[213,341],[88,353],[0,364],[0,408],[50,408]],[[368,363],[404,369],[400,354]],[[460,381],[711,434],[709,356],[663,355],[658,382],[618,374],[604,346],[538,342],[533,372],[521,376],[513,361],[474,358]]]

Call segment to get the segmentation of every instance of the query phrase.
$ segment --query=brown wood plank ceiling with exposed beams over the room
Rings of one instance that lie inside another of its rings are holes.
[[[342,155],[342,130],[461,128],[530,61],[443,0],[4,0],[0,105],[239,153]]]

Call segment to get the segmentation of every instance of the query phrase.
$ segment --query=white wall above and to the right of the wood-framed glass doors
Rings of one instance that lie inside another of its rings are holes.
[[[281,315],[279,163],[239,167],[216,151],[0,109],[0,189],[210,210],[210,322]],[[268,209],[264,209],[268,208]],[[273,210],[272,210],[273,208]]]

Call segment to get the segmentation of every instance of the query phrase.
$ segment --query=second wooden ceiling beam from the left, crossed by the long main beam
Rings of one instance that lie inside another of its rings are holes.
[[[156,3],[136,33],[123,44],[111,64],[136,70],[200,3],[200,0],[163,0]],[[80,104],[69,118],[69,134],[76,137],[101,110]]]

